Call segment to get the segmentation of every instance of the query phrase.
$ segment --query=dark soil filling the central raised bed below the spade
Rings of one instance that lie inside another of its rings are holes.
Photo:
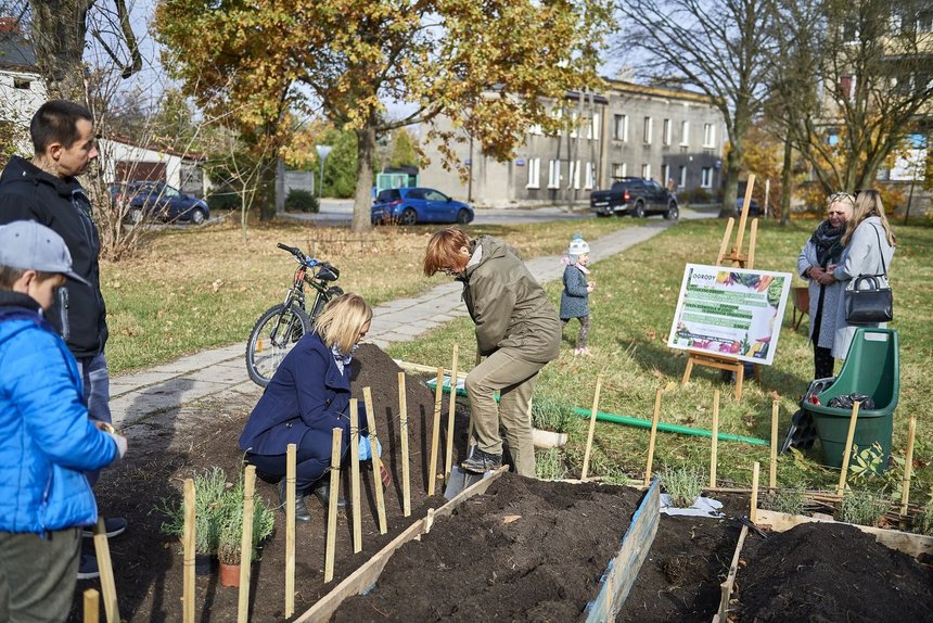
[[[503,474],[398,549],[333,621],[578,621],[641,496]]]

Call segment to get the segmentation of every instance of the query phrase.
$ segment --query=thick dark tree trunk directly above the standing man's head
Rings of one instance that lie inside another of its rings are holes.
[[[94,0],[29,0],[33,47],[51,99],[87,104],[81,58]]]

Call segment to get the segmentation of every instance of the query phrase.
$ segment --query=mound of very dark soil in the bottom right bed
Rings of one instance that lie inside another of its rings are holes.
[[[851,525],[804,523],[745,542],[743,622],[933,621],[933,568]]]

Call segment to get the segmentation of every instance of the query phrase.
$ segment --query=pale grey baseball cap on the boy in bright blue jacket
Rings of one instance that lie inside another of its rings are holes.
[[[0,265],[62,275],[90,285],[72,270],[72,254],[62,237],[35,220],[0,226]]]

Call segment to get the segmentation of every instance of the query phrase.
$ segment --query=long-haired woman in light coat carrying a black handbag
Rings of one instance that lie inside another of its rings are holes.
[[[842,259],[832,269],[832,278],[842,281],[846,293],[839,306],[832,356],[845,359],[856,326],[845,320],[845,297],[853,280],[860,275],[876,275],[882,287],[887,287],[891,259],[894,257],[895,238],[884,216],[881,194],[877,190],[864,190],[855,199],[855,209],[842,237],[845,250]],[[864,325],[862,325],[864,326]],[[884,325],[872,325],[883,327]]]

